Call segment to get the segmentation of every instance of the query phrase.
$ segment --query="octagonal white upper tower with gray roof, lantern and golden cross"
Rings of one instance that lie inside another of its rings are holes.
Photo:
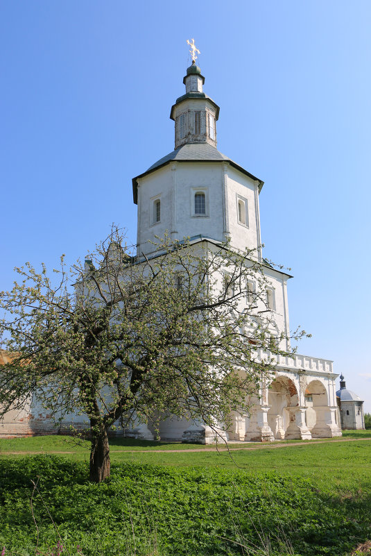
[[[216,148],[218,105],[203,91],[205,77],[192,63],[183,78],[185,93],[171,107],[175,148],[133,178],[138,206],[137,255],[155,251],[156,237],[209,239],[254,250],[261,260],[259,192],[263,181]]]

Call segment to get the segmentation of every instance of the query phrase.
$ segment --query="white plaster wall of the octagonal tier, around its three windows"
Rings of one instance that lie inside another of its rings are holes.
[[[206,215],[193,214],[195,189],[205,190]],[[224,189],[225,188],[225,189]],[[153,224],[153,199],[161,200],[161,221]],[[248,222],[239,223],[237,200],[248,204]],[[144,176],[138,187],[139,252],[151,253],[155,235],[174,239],[204,235],[218,241],[231,237],[234,248],[260,245],[258,184],[225,162],[173,162]],[[258,258],[260,257],[257,255]]]

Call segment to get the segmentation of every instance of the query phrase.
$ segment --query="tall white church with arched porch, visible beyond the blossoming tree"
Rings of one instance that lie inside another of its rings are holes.
[[[183,78],[185,90],[170,112],[174,149],[132,179],[137,257],[150,257],[156,237],[165,233],[172,239],[189,237],[193,243],[220,245],[228,241],[239,252],[256,250],[270,284],[266,303],[273,315],[273,332],[284,332],[289,351],[287,283],[292,276],[271,267],[263,257],[259,194],[264,182],[218,151],[219,106],[203,90],[205,77],[196,64],[198,51],[193,40],[189,44],[192,62]],[[279,355],[273,380],[261,383],[250,414],[233,416],[225,437],[230,441],[273,441],[340,436],[337,376],[330,360],[296,353]],[[14,421],[12,425],[15,435],[30,434],[28,429],[33,434],[51,432],[47,416],[37,422],[27,416],[17,419],[19,427]],[[9,423],[9,419],[0,423],[0,435],[6,434]],[[155,439],[155,431],[146,424],[125,434]],[[164,440],[202,444],[215,439],[215,433],[203,423],[178,419],[160,423],[159,435]]]

